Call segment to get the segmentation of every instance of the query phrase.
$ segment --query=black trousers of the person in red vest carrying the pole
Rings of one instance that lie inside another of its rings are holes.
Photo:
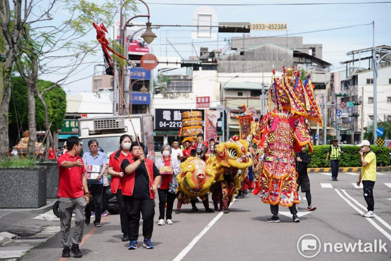
[[[151,238],[153,232],[153,216],[155,215],[155,200],[124,196],[125,212],[128,216],[128,233],[130,240],[138,239],[140,213],[143,218],[143,236]]]

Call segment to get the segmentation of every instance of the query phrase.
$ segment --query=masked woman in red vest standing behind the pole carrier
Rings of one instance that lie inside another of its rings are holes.
[[[111,153],[108,173],[111,175],[111,191],[117,196],[119,215],[121,219],[122,241],[129,241],[128,219],[124,210],[124,198],[122,196],[121,178],[124,172],[121,171],[121,163],[124,159],[130,159],[130,136],[124,134],[119,139],[120,149]]]

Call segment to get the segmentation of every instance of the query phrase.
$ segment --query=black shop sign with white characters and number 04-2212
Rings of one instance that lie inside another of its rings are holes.
[[[187,112],[189,109],[155,109],[155,130],[173,130],[179,131],[182,127],[182,112]],[[205,119],[205,111],[202,112],[202,119]],[[217,111],[217,131],[221,131],[222,126],[222,111]],[[227,122],[226,115],[224,122]]]

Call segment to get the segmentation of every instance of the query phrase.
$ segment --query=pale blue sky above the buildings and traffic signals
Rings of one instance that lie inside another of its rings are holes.
[[[102,2],[103,0],[94,0]],[[147,0],[151,11],[153,24],[193,24],[193,14],[201,5],[164,5],[162,3],[199,3],[199,4],[259,4],[259,3],[330,3],[330,2],[369,2],[374,0]],[[384,1],[384,0],[383,0]],[[137,0],[136,0],[137,2]],[[157,3],[157,4],[156,4]],[[297,33],[324,30],[330,28],[370,24],[374,21],[375,45],[391,45],[391,2],[382,4],[344,4],[344,5],[263,5],[263,6],[211,6],[217,13],[217,22],[237,23],[287,23],[288,34],[295,36]],[[145,14],[146,8],[140,2],[140,13]],[[62,15],[59,15],[61,17]],[[65,17],[66,15],[64,15]],[[118,17],[119,20],[119,17]],[[97,21],[99,22],[99,21]],[[146,18],[138,18],[134,22],[146,22]],[[195,55],[191,43],[191,30],[193,27],[161,27],[153,29],[157,38],[152,42],[152,53],[156,56],[178,56],[174,48],[166,40],[174,45],[175,49],[187,59]],[[251,31],[251,36],[274,36],[285,34],[286,31]],[[362,25],[338,30],[329,30],[305,34],[297,34],[303,37],[304,44],[322,44],[323,60],[333,65],[333,70],[342,69],[340,62],[351,59],[346,55],[348,51],[372,47],[372,25]],[[224,39],[233,36],[242,36],[242,33],[219,33],[218,48],[226,45]],[[95,31],[86,37],[95,39]],[[199,43],[211,41],[210,43]],[[195,49],[199,53],[200,47],[209,47],[209,50],[217,48],[216,40],[193,40]],[[102,64],[101,52],[88,57],[89,64],[80,67],[69,78],[64,90],[68,94],[77,94],[80,91],[92,91],[92,77],[94,65]],[[271,70],[271,69],[270,69]],[[178,73],[171,71],[170,73]],[[45,79],[55,80],[57,75],[48,75]],[[86,78],[81,79],[80,78]]]

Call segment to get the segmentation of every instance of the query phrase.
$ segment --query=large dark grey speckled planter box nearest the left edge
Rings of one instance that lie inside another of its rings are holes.
[[[46,166],[0,167],[0,208],[46,205]]]

